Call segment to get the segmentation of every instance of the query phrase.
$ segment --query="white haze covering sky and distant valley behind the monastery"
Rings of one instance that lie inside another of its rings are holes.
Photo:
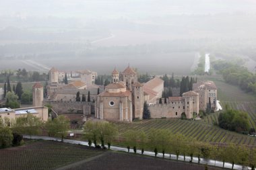
[[[1,1],[0,70],[189,74],[199,52],[255,62],[256,1]],[[37,63],[34,65],[33,63]]]

